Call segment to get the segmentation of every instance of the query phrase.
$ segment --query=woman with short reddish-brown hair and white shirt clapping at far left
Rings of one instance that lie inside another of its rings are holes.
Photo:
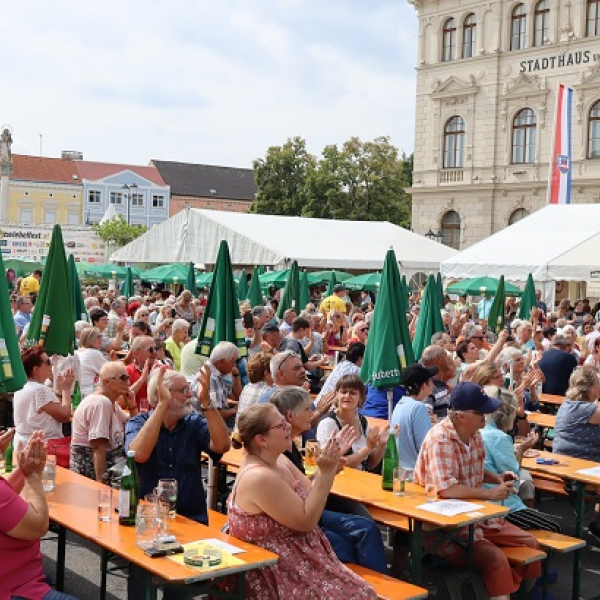
[[[72,370],[58,376],[60,397],[46,385],[52,381],[52,363],[41,346],[27,348],[21,353],[27,383],[13,399],[15,420],[15,449],[24,448],[34,431],[41,431],[46,440],[62,437],[62,424],[71,418],[71,386],[75,381]]]

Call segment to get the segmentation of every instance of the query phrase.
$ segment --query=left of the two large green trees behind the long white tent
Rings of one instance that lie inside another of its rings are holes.
[[[306,178],[317,164],[306,142],[295,137],[283,146],[271,146],[267,156],[254,161],[258,187],[250,212],[296,216],[306,200]]]

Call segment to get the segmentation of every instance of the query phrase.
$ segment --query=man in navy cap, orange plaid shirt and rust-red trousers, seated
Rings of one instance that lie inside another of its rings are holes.
[[[450,395],[448,416],[435,425],[425,437],[417,463],[415,482],[433,486],[440,499],[505,500],[515,493],[516,475],[484,469],[485,448],[480,429],[485,415],[498,410],[501,402],[488,396],[481,386],[472,382],[459,383]],[[491,489],[484,483],[493,483]],[[439,532],[425,537],[425,546],[457,566],[467,564],[468,527],[453,531],[458,544]],[[513,567],[498,546],[528,546],[539,548],[536,539],[504,519],[492,518],[475,526],[473,564],[485,583],[491,599],[508,600],[522,582],[532,588],[541,574],[539,562],[525,567]]]

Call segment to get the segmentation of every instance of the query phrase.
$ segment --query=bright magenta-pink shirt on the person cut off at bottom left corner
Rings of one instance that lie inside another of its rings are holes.
[[[27,509],[27,502],[0,477],[0,600],[10,600],[12,596],[42,598],[50,591],[44,577],[40,541],[6,535],[23,520]]]

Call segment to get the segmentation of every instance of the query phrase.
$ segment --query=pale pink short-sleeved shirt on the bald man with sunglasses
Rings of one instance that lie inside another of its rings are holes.
[[[92,440],[108,440],[107,450],[123,447],[129,415],[102,394],[86,396],[73,415],[71,444],[91,446]]]

